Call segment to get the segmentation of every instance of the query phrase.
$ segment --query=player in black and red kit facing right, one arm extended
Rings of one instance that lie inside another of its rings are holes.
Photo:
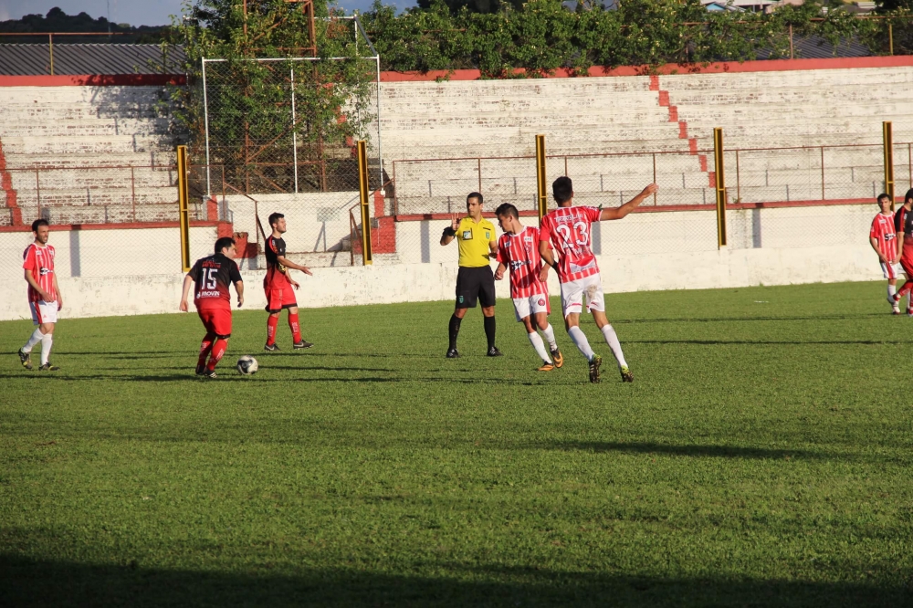
[[[278,351],[276,344],[276,328],[279,324],[279,313],[282,309],[289,309],[289,329],[291,329],[292,346],[296,349],[310,349],[313,344],[301,338],[301,328],[298,322],[298,300],[295,299],[294,289],[299,284],[289,277],[289,268],[300,270],[306,275],[312,274],[310,268],[299,266],[285,257],[285,241],[282,235],[286,232],[285,215],[269,215],[269,227],[273,229],[267,239],[267,276],[263,278],[263,290],[267,294],[267,343],[264,351]]]

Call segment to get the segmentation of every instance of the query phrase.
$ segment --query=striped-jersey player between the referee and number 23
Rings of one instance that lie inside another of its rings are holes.
[[[510,298],[514,301],[514,311],[517,320],[526,326],[527,337],[532,348],[540,356],[543,364],[540,372],[551,372],[556,367],[561,367],[564,357],[555,342],[555,331],[549,323],[549,288],[540,281],[539,273],[542,269],[542,259],[539,254],[539,228],[523,226],[519,223],[517,207],[505,203],[495,210],[498,224],[504,234],[498,238],[498,269],[495,270],[495,280],[504,278],[504,271],[510,269]],[[535,316],[536,325],[532,319]],[[545,350],[545,342],[536,332],[536,327],[549,341],[551,357]]]

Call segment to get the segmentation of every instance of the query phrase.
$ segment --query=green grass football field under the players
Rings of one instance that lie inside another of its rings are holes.
[[[63,320],[55,374],[0,323],[0,605],[913,605],[883,283],[607,303],[634,384],[592,320],[603,383],[563,331],[535,372],[508,301],[506,356],[473,310],[456,361],[448,303],[303,309],[269,354],[236,312],[215,381],[194,314]]]

